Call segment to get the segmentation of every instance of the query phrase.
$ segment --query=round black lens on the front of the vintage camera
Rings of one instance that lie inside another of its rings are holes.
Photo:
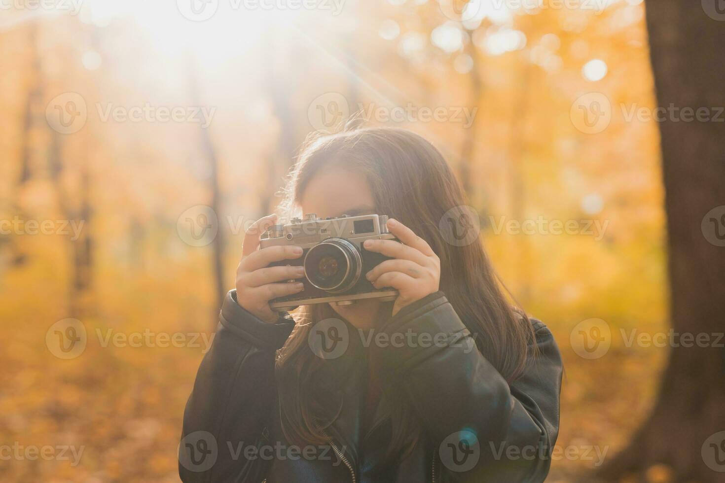
[[[313,246],[303,264],[307,280],[330,293],[349,290],[360,279],[363,266],[355,245],[342,238],[330,238]]]

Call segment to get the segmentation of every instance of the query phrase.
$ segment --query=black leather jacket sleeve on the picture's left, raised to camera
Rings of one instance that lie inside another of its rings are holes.
[[[265,461],[245,458],[245,448],[262,444],[277,403],[276,350],[293,327],[289,315],[267,324],[236,303],[236,290],[226,295],[214,342],[184,411],[179,445],[183,482],[264,479]]]

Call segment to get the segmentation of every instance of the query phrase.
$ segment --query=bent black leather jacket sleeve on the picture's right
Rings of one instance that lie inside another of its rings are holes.
[[[436,442],[440,471],[453,481],[546,478],[558,435],[563,368],[549,329],[533,324],[537,350],[510,385],[476,348],[442,292],[402,308],[384,325],[388,340],[404,334],[416,341],[376,348],[384,384],[402,390]]]

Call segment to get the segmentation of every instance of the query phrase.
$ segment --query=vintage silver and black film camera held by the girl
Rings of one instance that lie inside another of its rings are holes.
[[[396,240],[388,232],[385,215],[365,214],[357,217],[318,218],[314,213],[305,219],[294,218],[289,224],[275,224],[260,237],[260,248],[273,245],[298,245],[302,256],[270,264],[305,267],[300,280],[305,288],[294,295],[275,298],[270,307],[288,311],[297,306],[335,302],[349,305],[363,298],[392,301],[397,290],[373,287],[365,274],[389,256],[367,251],[363,242],[369,239]]]

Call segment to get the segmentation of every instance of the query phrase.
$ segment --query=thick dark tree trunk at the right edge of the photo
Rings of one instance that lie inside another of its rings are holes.
[[[711,343],[672,348],[650,418],[602,475],[613,480],[664,463],[677,482],[724,482],[725,473],[706,463],[725,470],[725,443],[703,443],[725,431],[725,349],[712,344],[725,330],[725,248],[718,246],[725,207],[708,214],[725,205],[725,123],[717,109],[725,106],[725,23],[700,1],[647,7],[658,105],[704,107],[719,117],[687,122],[666,114],[660,123],[672,324],[675,333],[709,335]]]

